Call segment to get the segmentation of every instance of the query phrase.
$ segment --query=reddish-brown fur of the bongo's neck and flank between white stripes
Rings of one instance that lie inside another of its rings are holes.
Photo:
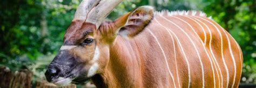
[[[193,39],[193,42],[196,43],[197,49],[199,50],[201,58],[203,58],[204,63],[204,71],[205,71],[205,87],[213,87],[213,76],[212,76],[212,68],[210,66],[210,61],[207,59],[206,52],[203,49],[203,45],[199,41],[204,40],[204,33],[201,30],[206,30],[206,26],[203,27],[204,29],[200,29],[198,24],[195,24],[192,20],[186,19],[183,16],[176,16],[178,18],[186,20],[188,23],[190,23],[194,29],[196,29],[196,32],[199,34],[200,39],[197,38],[196,34],[192,32],[192,29],[188,27],[188,25],[184,24],[180,20],[173,18],[172,16],[164,16],[169,20],[172,20],[174,23],[177,23],[183,30],[185,30],[187,33],[189,33],[190,37]],[[190,16],[193,19],[196,19],[197,17]],[[198,16],[199,17],[199,16]],[[214,25],[217,25],[214,21],[205,18],[200,17],[206,20],[211,21]],[[185,54],[188,57],[188,61],[190,63],[190,69],[191,69],[191,85],[194,87],[203,86],[201,82],[201,67],[199,65],[198,56],[195,52],[195,49],[193,49],[193,46],[191,42],[186,38],[183,32],[180,31],[179,28],[176,26],[170,24],[163,18],[160,18],[157,14],[154,19],[157,19],[160,21],[160,23],[167,28],[170,28],[174,33],[177,34],[179,40],[181,40],[181,45],[183,46],[185,50]],[[217,59],[217,62],[220,65],[221,72],[219,72],[219,75],[223,75],[223,85],[225,87],[226,83],[226,72],[224,69],[223,62],[221,62],[221,50],[220,50],[220,35],[217,33],[216,29],[211,25],[208,24],[206,21],[203,21],[207,26],[210,27],[211,33],[212,33],[212,48],[214,56]],[[198,22],[199,23],[199,22]],[[181,26],[182,25],[182,26]],[[148,28],[148,29],[147,29]],[[230,82],[229,87],[232,86],[233,82],[233,74],[234,69],[237,69],[237,76],[235,79],[234,87],[238,86],[240,76],[241,76],[241,62],[239,61],[241,56],[239,56],[239,53],[241,53],[240,48],[237,47],[237,42],[235,42],[233,39],[231,39],[232,36],[230,36],[223,28],[218,26],[221,35],[223,36],[223,49],[224,49],[224,58],[227,62],[228,69],[230,71]],[[164,62],[164,56],[161,53],[160,48],[158,47],[156,40],[150,35],[148,30],[151,30],[158,38],[158,41],[161,42],[161,46],[164,48],[165,54],[168,58],[168,63],[170,70],[173,73],[174,81],[176,84],[172,82],[172,79],[167,72],[166,64]],[[100,29],[99,29],[100,30]],[[235,57],[235,62],[237,64],[237,68],[233,68],[232,60],[230,53],[228,51],[228,44],[227,44],[227,38],[224,35],[224,32],[228,34],[228,38],[231,40],[231,46],[233,49],[233,55]],[[207,41],[206,41],[206,50],[208,53],[210,53],[210,34],[207,32]],[[174,38],[174,35],[172,35],[174,39],[174,43],[172,42],[171,36],[168,34],[167,31],[164,30],[162,26],[156,23],[155,20],[151,21],[151,24],[147,26],[143,32],[138,34],[137,36],[134,36],[133,39],[127,40],[122,38],[122,36],[117,36],[116,40],[111,44],[110,47],[110,60],[107,63],[104,72],[97,75],[97,77],[93,77],[93,82],[96,84],[97,87],[104,86],[107,87],[188,87],[188,74],[187,74],[187,64],[184,60],[184,55],[181,53],[180,48],[178,47],[178,41]],[[174,60],[174,51],[173,51],[173,45],[176,46],[176,58],[177,58],[177,65],[178,65],[178,73],[179,76],[177,76],[175,73],[175,60]],[[211,58],[212,55],[210,54]],[[218,68],[218,67],[217,67]],[[218,69],[217,69],[218,70]],[[217,71],[214,68],[215,72],[215,81],[216,81],[216,87],[220,87],[221,85],[218,83],[221,81],[220,77],[217,76]],[[177,77],[180,79],[180,86],[178,85]],[[103,80],[100,80],[98,78],[102,78]],[[101,84],[101,85],[98,85]]]

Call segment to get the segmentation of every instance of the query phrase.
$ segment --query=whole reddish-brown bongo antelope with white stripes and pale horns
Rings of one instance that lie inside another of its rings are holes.
[[[92,79],[97,87],[238,87],[242,53],[200,11],[140,6],[104,20],[121,0],[83,0],[45,72],[56,85]]]

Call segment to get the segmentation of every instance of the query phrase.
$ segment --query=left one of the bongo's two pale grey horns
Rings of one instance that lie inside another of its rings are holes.
[[[89,13],[99,1],[100,0],[83,0],[78,6],[73,20],[85,20],[87,13]]]

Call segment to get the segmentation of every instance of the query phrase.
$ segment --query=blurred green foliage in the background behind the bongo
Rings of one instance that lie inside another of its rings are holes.
[[[2,0],[0,3],[0,64],[11,70],[28,68],[36,78],[62,45],[79,0]],[[156,10],[201,10],[223,26],[242,48],[241,82],[256,83],[256,1],[254,0],[127,0],[107,19],[114,20],[141,5]]]

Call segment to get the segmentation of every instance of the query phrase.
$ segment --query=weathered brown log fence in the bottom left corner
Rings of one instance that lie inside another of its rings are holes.
[[[28,69],[22,69],[16,71],[14,74],[8,67],[0,66],[0,88],[19,88],[32,87],[32,72]],[[36,87],[44,87],[44,88],[76,88],[75,84],[67,85],[67,86],[56,86],[52,83],[46,82],[46,80],[41,80],[36,82]]]

